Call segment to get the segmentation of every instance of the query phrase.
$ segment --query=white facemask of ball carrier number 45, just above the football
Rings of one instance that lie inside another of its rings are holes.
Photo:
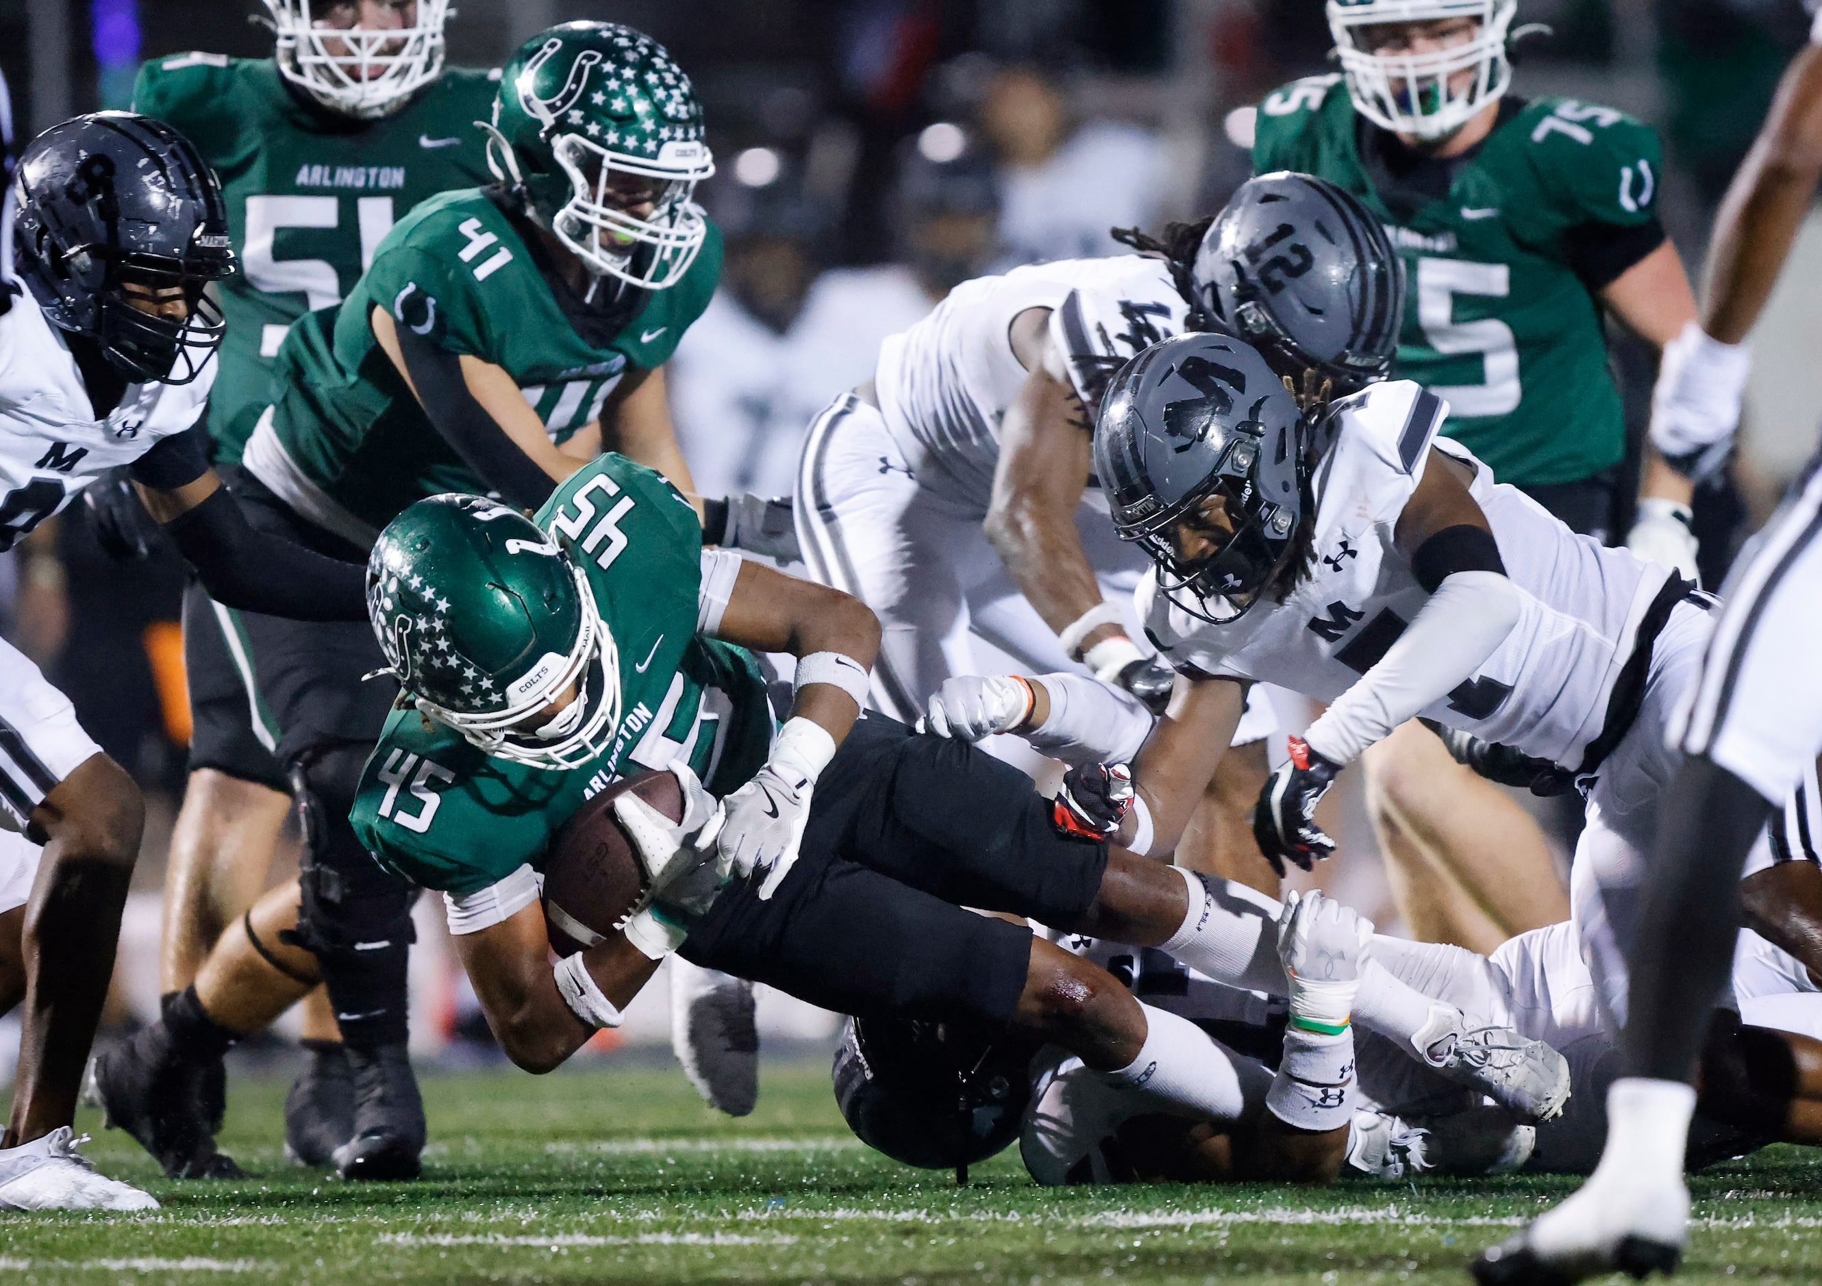
[[[578,566],[570,572],[581,603],[581,628],[568,656],[547,652],[510,685],[503,707],[452,710],[414,696],[417,709],[461,732],[476,749],[534,769],[578,769],[603,754],[619,727],[619,648],[614,647],[612,632],[601,623],[589,577]],[[404,647],[395,650],[406,652]],[[401,674],[399,681],[406,690],[412,689],[408,674]],[[568,705],[554,718],[534,725],[534,720],[572,687],[578,690]]]

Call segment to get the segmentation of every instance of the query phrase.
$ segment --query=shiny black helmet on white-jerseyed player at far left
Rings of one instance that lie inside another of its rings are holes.
[[[226,326],[204,286],[235,270],[220,184],[162,120],[97,111],[51,126],[9,195],[18,275],[44,315],[135,381],[188,384]],[[140,311],[128,284],[182,290],[186,317]]]

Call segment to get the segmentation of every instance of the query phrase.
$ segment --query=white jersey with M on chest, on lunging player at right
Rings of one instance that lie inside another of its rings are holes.
[[[1430,446],[1474,470],[1470,494],[1487,514],[1507,576],[1523,590],[1518,625],[1479,672],[1425,716],[1567,769],[1607,718],[1640,617],[1669,572],[1623,548],[1576,536],[1463,446],[1436,439],[1447,403],[1410,381],[1374,384],[1336,403],[1315,479],[1310,572],[1283,603],[1259,601],[1226,625],[1184,612],[1139,585],[1152,641],[1186,674],[1233,676],[1332,701],[1346,692],[1428,601],[1392,546]]]

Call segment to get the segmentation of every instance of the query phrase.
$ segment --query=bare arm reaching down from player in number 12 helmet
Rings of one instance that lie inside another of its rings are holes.
[[[1049,337],[1049,308],[1028,308],[1013,319],[1013,353],[1028,373],[1000,424],[984,530],[1037,614],[1062,634],[1100,607],[1100,585],[1075,530],[1075,506],[1095,466],[1093,421]],[[1108,621],[1071,641],[1077,656],[1088,656],[1124,638],[1121,625]],[[1137,658],[1128,643],[1113,672]]]

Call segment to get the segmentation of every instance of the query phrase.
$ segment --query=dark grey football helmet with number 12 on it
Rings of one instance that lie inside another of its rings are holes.
[[[1392,370],[1405,275],[1385,226],[1326,179],[1248,179],[1203,235],[1193,304],[1301,381],[1315,368],[1352,393]]]

